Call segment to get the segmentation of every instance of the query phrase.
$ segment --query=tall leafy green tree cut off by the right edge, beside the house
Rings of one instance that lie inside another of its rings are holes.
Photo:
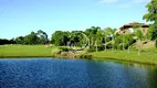
[[[148,9],[148,13],[146,13],[143,19],[147,22],[153,22],[149,29],[149,36],[150,40],[157,43],[157,0],[151,0],[146,8]]]

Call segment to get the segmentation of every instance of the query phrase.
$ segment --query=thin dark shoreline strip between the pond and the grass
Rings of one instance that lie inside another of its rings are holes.
[[[53,57],[53,56],[0,56],[0,59],[6,59],[6,58],[42,58],[42,57],[52,57],[52,58],[56,58],[56,59],[60,59],[57,57]],[[66,59],[72,59],[72,57],[62,57],[62,58],[66,58]],[[77,59],[88,59],[88,58],[80,58],[80,57],[76,57]],[[127,59],[121,59],[121,58],[114,58],[114,57],[96,57],[96,56],[93,56],[92,58],[90,58],[90,61],[101,61],[101,62],[104,62],[104,61],[119,61],[119,62],[128,62],[128,63],[136,63],[136,64],[144,64],[144,65],[151,65],[151,66],[157,66],[156,63],[154,62],[139,62],[139,61],[132,61],[129,58]]]

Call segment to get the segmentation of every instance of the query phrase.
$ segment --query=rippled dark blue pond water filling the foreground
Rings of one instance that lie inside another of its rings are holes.
[[[83,59],[0,59],[0,88],[157,88],[157,67]]]

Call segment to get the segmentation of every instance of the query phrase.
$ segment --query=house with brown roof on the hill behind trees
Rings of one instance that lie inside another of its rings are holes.
[[[133,23],[124,24],[123,26],[121,26],[115,32],[115,34],[123,34],[126,32],[134,33],[134,26],[136,26],[136,25],[138,25],[138,28],[140,28],[143,30],[144,35],[146,35],[148,33],[149,24],[133,22]]]

